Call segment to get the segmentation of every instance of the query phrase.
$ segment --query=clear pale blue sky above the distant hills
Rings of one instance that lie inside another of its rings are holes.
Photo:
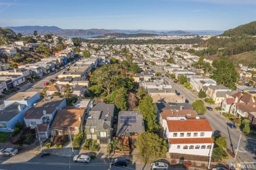
[[[256,0],[0,0],[0,27],[226,30],[256,20]]]

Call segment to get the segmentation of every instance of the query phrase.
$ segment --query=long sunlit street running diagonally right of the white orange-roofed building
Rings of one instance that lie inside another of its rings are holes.
[[[156,71],[156,66],[153,68]],[[157,71],[162,72],[164,75],[164,70],[158,67]],[[173,91],[177,91],[180,95],[185,96],[189,103],[193,103],[195,100],[199,99],[195,94],[189,91],[187,88],[180,84],[175,84],[171,79],[164,76],[163,79],[167,84],[172,85]],[[206,104],[206,106],[210,106]],[[212,107],[212,106],[211,106]],[[227,126],[227,122],[224,118],[220,116],[220,113],[213,109],[213,111],[207,110],[205,113],[205,118],[209,121],[213,131],[219,131],[222,136],[227,137],[228,148],[231,151],[236,151],[239,136],[241,131],[239,129],[231,129]],[[256,164],[256,137],[255,136],[245,136],[242,135],[242,140],[239,144],[239,149],[237,153],[237,159],[240,162],[245,163],[255,163]]]

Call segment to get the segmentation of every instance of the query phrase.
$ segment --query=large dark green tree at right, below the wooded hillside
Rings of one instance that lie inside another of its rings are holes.
[[[215,69],[211,78],[216,80],[219,85],[236,90],[235,83],[239,78],[239,74],[233,62],[228,61],[227,58],[222,56],[219,60],[213,61],[213,67]]]

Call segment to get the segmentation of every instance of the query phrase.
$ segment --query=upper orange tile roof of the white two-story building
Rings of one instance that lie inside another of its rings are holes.
[[[167,120],[170,132],[212,132],[206,119]]]

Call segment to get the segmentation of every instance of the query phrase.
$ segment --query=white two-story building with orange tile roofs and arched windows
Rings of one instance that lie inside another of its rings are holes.
[[[162,126],[171,157],[196,155],[207,160],[212,154],[212,128],[206,119],[167,117]]]

